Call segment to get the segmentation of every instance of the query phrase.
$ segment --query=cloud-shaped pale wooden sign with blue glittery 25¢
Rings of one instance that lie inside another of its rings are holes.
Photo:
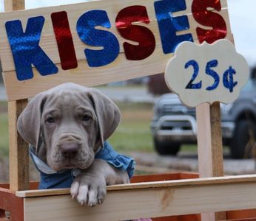
[[[190,107],[233,102],[248,78],[246,60],[227,40],[201,45],[183,42],[165,70],[166,84]]]

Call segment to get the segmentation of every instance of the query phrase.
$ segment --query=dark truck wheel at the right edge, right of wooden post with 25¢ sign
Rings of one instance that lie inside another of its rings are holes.
[[[240,120],[238,121],[234,136],[230,143],[230,151],[232,158],[252,158],[252,148],[255,144],[256,127],[252,121]]]

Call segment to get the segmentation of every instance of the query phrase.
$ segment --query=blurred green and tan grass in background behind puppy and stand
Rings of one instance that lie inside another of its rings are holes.
[[[118,152],[153,152],[150,122],[152,104],[117,102],[122,113],[121,123],[109,138]],[[0,102],[0,156],[8,155],[7,102]],[[183,145],[181,151],[197,152],[196,145]]]

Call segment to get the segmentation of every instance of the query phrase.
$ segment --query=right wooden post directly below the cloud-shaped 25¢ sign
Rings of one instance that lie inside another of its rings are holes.
[[[198,124],[198,170],[201,178],[223,176],[223,145],[220,103],[196,108]],[[225,220],[226,213],[201,214],[202,220]]]

